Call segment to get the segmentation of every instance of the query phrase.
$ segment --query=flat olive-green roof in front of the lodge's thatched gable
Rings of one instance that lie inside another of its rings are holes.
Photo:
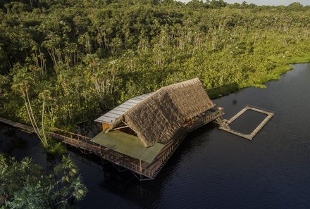
[[[92,141],[101,146],[111,148],[118,153],[123,153],[126,156],[137,158],[147,163],[151,163],[165,146],[156,143],[154,146],[145,147],[138,137],[117,130],[109,133],[101,132]]]

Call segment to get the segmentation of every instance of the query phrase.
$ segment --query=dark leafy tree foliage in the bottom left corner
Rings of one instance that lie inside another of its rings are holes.
[[[48,172],[48,175],[46,175]],[[20,162],[0,154],[0,208],[69,208],[82,200],[87,188],[68,157],[45,171],[24,158]]]

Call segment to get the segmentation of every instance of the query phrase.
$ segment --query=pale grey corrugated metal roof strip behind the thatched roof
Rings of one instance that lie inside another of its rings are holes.
[[[147,99],[149,96],[151,96],[151,94],[153,93],[143,94],[141,96],[136,96],[132,99],[129,99],[128,101],[122,103],[120,106],[110,110],[108,113],[101,115],[94,121],[112,124],[118,117],[120,117],[120,115],[123,115],[125,112],[133,108],[137,103],[140,103],[140,101]]]

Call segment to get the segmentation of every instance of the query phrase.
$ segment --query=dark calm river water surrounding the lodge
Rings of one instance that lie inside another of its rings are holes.
[[[253,141],[206,125],[187,136],[155,180],[138,182],[100,159],[70,154],[89,188],[80,208],[310,208],[310,65],[294,65],[267,89],[215,102],[231,118],[247,104],[275,116]],[[251,114],[251,113],[250,113]],[[250,115],[251,116],[251,115]],[[258,115],[256,115],[258,116]],[[244,120],[249,121],[249,118]],[[258,116],[259,117],[259,116]],[[251,120],[250,120],[251,121]],[[249,131],[252,122],[235,124]],[[0,126],[0,149],[48,166],[36,137]]]

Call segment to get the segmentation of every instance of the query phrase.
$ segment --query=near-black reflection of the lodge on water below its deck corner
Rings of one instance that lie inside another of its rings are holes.
[[[69,148],[69,150],[72,150],[72,148]],[[180,153],[178,153],[176,156],[179,155]],[[178,158],[175,158],[175,155],[173,155],[173,158],[175,160],[173,160],[173,164],[171,165],[171,167],[167,168],[167,175],[158,176],[154,181],[144,181],[141,182],[141,184],[137,184],[134,175],[128,175],[128,172],[119,172],[120,170],[115,169],[118,167],[113,167],[113,163],[108,163],[107,161],[107,163],[104,163],[104,165],[102,165],[99,156],[97,158],[97,156],[85,155],[81,152],[75,151],[74,149],[73,152],[70,152],[70,156],[73,159],[79,161],[78,165],[80,165],[81,163],[87,165],[87,173],[89,174],[89,172],[91,172],[92,177],[98,177],[98,175],[100,176],[98,179],[86,179],[86,182],[88,184],[99,185],[102,190],[108,191],[111,194],[123,198],[125,201],[130,202],[131,205],[137,205],[140,208],[149,208],[149,205],[152,205],[156,203],[156,201],[159,201],[159,198],[161,198],[161,185],[168,178],[169,175],[172,175],[171,170],[173,170],[173,167],[175,167],[175,163],[178,162]],[[170,162],[168,162],[168,165],[169,164]],[[89,169],[89,167],[91,167],[91,169]],[[82,175],[84,176],[84,174]],[[98,190],[89,191],[89,195],[93,197],[97,197],[97,195],[104,195],[105,198],[109,198],[109,194],[101,194],[98,192]],[[89,201],[89,203],[87,203],[87,201]],[[86,203],[83,204],[92,204],[95,208],[100,208],[102,206],[100,201],[96,203],[93,203],[91,201],[92,200],[87,199]],[[80,205],[80,208],[82,208],[82,205]]]

